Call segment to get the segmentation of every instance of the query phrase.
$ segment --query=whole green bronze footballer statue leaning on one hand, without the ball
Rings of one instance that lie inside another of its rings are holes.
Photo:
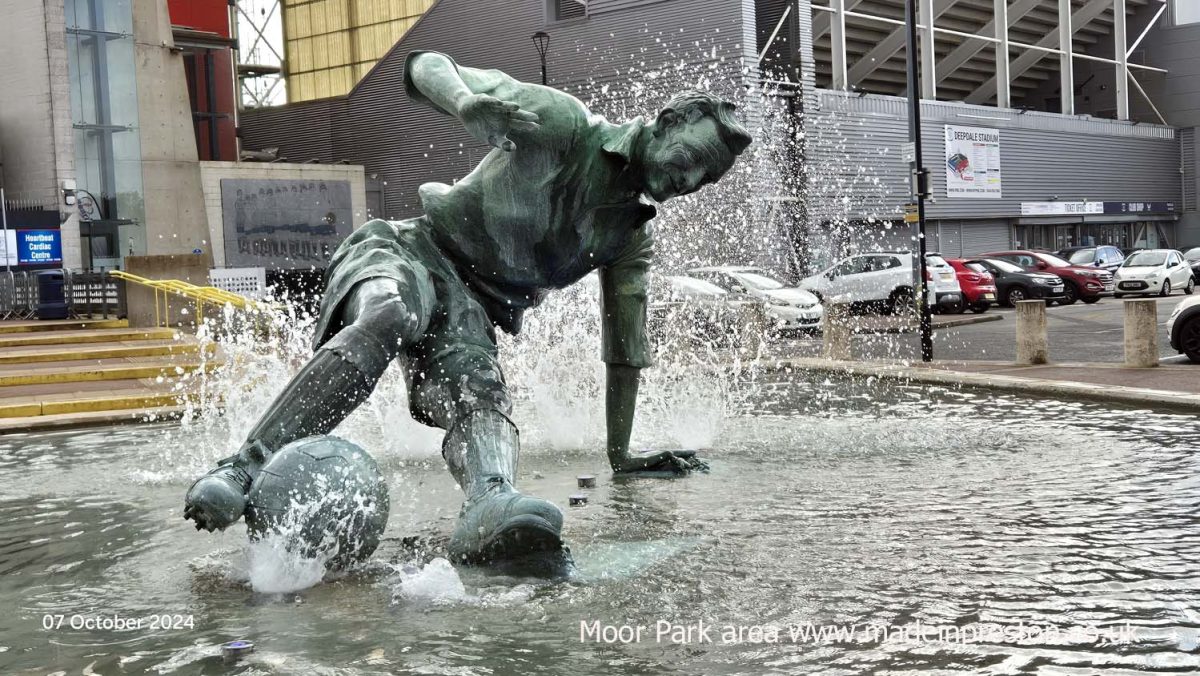
[[[455,183],[420,189],[425,216],[371,221],[337,250],[316,353],[242,449],[188,491],[197,527],[236,520],[271,453],[331,431],[402,359],[418,420],[448,431],[443,455],[468,496],[450,551],[498,561],[553,550],[562,515],[514,489],[518,439],[494,328],[517,333],[552,289],[600,271],[607,453],[614,472],[706,468],[688,451],[631,454],[638,371],[650,364],[647,273],[654,201],[716,181],[750,143],[733,104],[677,95],[653,121],[614,125],[562,91],[436,52],[404,66],[408,95],[454,115],[493,150]]]

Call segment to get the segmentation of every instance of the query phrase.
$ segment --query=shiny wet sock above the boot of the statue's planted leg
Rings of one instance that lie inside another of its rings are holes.
[[[461,417],[442,442],[442,456],[468,496],[503,480],[517,478],[521,437],[516,425],[499,411],[479,409]]]

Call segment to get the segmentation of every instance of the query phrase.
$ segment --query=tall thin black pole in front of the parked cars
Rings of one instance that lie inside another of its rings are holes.
[[[922,162],[920,152],[920,73],[917,70],[917,0],[905,0],[905,23],[907,24],[908,46],[908,142],[912,143],[913,157],[912,172],[912,196],[917,201],[917,222],[913,223],[913,239],[917,246],[913,249],[913,270],[917,279],[913,288],[917,289],[917,311],[920,313],[920,360],[934,360],[934,318],[930,316],[928,291],[925,288],[929,267],[925,262],[925,198],[929,197],[929,169]],[[926,49],[932,49],[932,44],[926,44]],[[906,219],[907,220],[907,219]]]

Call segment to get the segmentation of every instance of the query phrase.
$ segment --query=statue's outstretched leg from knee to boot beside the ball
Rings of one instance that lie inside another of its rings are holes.
[[[401,276],[401,275],[397,275]],[[373,277],[359,282],[341,305],[338,330],[300,369],[234,455],[188,490],[185,518],[197,528],[224,528],[246,507],[258,468],[288,443],[334,430],[371,396],[391,360],[414,345],[428,324],[427,283]]]

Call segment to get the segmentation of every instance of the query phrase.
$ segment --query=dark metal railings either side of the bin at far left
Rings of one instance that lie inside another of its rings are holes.
[[[37,316],[37,273],[0,271],[0,319],[31,319]],[[62,274],[67,312],[74,318],[121,318],[126,316],[125,282],[108,273]]]

